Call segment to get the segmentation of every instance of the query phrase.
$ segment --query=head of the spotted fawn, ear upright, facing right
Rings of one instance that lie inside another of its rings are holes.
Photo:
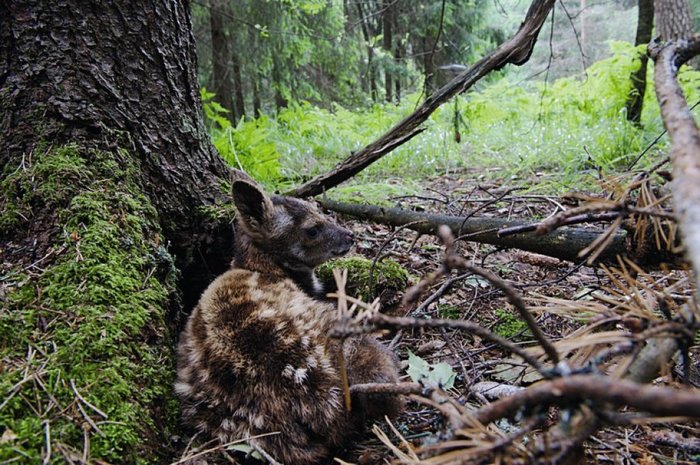
[[[288,274],[290,270],[311,270],[333,257],[345,255],[353,245],[352,232],[310,202],[268,197],[248,181],[234,181],[232,190],[238,210],[237,234],[245,236],[241,238],[242,245],[247,246],[249,255],[264,253],[265,257],[260,259],[273,260]],[[253,259],[244,258],[248,262]]]

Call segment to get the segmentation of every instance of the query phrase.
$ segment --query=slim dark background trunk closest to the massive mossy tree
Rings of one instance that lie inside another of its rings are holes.
[[[211,27],[211,62],[213,68],[213,84],[218,103],[231,112],[231,119],[237,121],[240,117],[233,103],[233,73],[229,35],[226,31],[226,21],[233,16],[229,0],[209,0],[209,24]],[[237,111],[238,110],[238,111]]]

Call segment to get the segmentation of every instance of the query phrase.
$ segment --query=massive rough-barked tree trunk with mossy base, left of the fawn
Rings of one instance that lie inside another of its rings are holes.
[[[171,453],[175,317],[232,244],[195,61],[183,1],[0,3],[0,461]]]

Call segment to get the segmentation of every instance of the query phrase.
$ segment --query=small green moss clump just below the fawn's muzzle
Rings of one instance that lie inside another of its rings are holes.
[[[380,292],[393,290],[401,292],[408,284],[409,275],[404,267],[393,260],[378,261],[372,272],[372,260],[362,257],[348,257],[331,260],[316,269],[316,275],[322,282],[333,281],[333,269],[348,270],[346,292],[365,301],[372,300]]]

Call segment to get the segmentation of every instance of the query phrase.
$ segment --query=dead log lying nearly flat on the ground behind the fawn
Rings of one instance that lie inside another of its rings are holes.
[[[528,231],[522,234],[500,236],[498,231],[503,228],[520,227],[530,222],[499,218],[465,218],[400,208],[351,204],[330,199],[321,199],[320,203],[328,210],[344,215],[389,226],[405,226],[423,234],[437,235],[438,227],[445,224],[450,227],[455,236],[467,241],[515,248],[573,262],[582,260],[578,255],[579,252],[590,245],[602,232],[591,228],[562,227],[546,235]],[[655,251],[639,256],[635,254],[636,250],[646,250],[646,248],[635,247],[630,235],[621,230],[614,234],[610,245],[601,253],[598,260],[603,263],[617,263],[617,256],[620,255],[632,257],[638,264],[648,266],[658,266],[662,263],[678,266],[682,262],[680,257],[671,253]]]

